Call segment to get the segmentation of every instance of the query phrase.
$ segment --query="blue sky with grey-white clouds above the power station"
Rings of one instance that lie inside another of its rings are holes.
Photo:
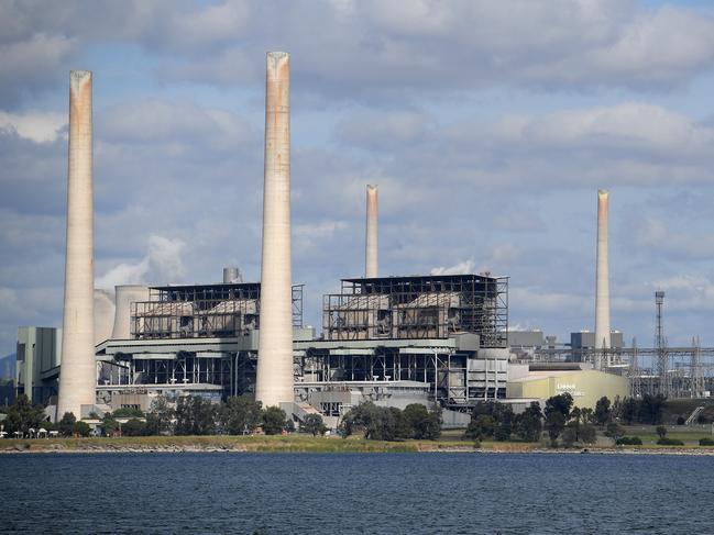
[[[62,322],[68,73],[94,73],[96,286],[260,278],[265,53],[292,63],[306,321],[364,269],[510,277],[510,328],[714,345],[705,1],[0,1],[0,355]]]

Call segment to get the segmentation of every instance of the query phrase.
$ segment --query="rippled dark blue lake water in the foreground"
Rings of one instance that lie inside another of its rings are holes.
[[[2,533],[714,533],[714,457],[0,456]]]

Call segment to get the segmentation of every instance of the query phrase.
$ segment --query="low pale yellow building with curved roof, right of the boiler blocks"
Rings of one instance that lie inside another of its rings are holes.
[[[574,406],[595,409],[603,395],[623,399],[629,389],[626,377],[592,369],[528,371],[506,383],[507,398],[547,400],[565,392],[573,397]]]

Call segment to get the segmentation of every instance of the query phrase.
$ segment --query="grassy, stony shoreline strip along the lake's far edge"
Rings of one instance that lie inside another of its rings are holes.
[[[542,444],[490,443],[473,447],[464,442],[382,442],[364,438],[311,436],[155,436],[117,438],[7,439],[0,442],[0,456],[26,454],[195,454],[195,453],[262,453],[262,454],[568,454],[568,455],[686,455],[714,456],[713,447],[594,446],[549,448]],[[3,447],[4,446],[4,447]]]

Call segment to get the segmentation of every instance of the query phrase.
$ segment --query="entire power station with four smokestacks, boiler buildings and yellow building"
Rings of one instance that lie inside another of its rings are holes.
[[[444,422],[459,424],[480,401],[525,406],[543,392],[568,389],[575,403],[580,395],[587,404],[597,392],[706,395],[712,367],[705,360],[714,349],[699,343],[670,348],[662,336],[656,348],[626,348],[622,333],[611,328],[605,190],[597,192],[594,333],[573,333],[570,344],[540,332],[509,332],[506,276],[380,276],[372,185],[364,276],[344,278],[323,296],[321,333],[305,326],[304,287],[292,277],[290,58],[282,52],[266,56],[261,280],[243,281],[238,268],[227,267],[220,278],[217,270],[217,282],[95,289],[91,74],[73,71],[69,94],[63,331],[22,333],[23,355],[37,336],[52,342],[43,347],[56,355],[36,357],[46,370],[24,370],[22,388],[53,398],[52,388],[32,389],[58,377],[57,417],[102,408],[145,410],[160,394],[249,394],[297,420],[320,413],[332,426],[367,400],[436,404]],[[691,366],[678,366],[690,349]],[[655,360],[657,369],[648,369],[645,363]]]

